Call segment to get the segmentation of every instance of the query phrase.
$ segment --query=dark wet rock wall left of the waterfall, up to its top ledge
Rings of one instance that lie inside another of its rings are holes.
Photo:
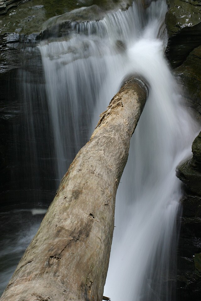
[[[0,0],[0,5],[8,2]],[[66,16],[73,20],[87,19],[95,6],[94,13],[100,18],[100,12],[103,16],[106,10],[126,9],[131,3],[132,0],[61,0],[57,4],[56,0],[32,0],[15,2],[19,4],[15,8],[4,5],[6,10],[0,22],[0,203],[3,206],[19,203],[31,206],[38,204],[38,200],[49,204],[58,185],[41,55],[34,43],[52,35],[68,35],[71,20],[65,21]],[[82,6],[87,8],[80,9]],[[0,8],[3,13],[3,6]],[[33,15],[37,18],[27,19]],[[39,25],[55,15],[60,15],[61,24],[56,24],[55,30],[50,26],[40,33]],[[26,47],[30,50],[24,51]],[[30,98],[34,103],[29,102]],[[32,123],[40,124],[37,131],[30,128]],[[45,127],[48,132],[44,132]],[[69,164],[74,153],[71,156]]]

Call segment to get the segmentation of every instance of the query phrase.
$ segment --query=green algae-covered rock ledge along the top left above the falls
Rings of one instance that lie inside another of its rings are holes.
[[[99,20],[106,11],[126,9],[131,4],[132,0],[25,0],[1,16],[0,34],[14,32],[28,35],[40,32],[46,24],[51,26],[57,21]]]

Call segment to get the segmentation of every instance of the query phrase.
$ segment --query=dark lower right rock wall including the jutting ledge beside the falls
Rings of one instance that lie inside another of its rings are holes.
[[[178,294],[181,300],[200,300],[201,294],[201,132],[192,145],[193,158],[178,167],[186,186],[178,248]]]

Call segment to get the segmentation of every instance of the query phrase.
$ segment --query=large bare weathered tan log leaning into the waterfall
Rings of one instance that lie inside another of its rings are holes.
[[[145,84],[132,78],[100,115],[1,301],[102,300],[117,187],[146,98]]]

